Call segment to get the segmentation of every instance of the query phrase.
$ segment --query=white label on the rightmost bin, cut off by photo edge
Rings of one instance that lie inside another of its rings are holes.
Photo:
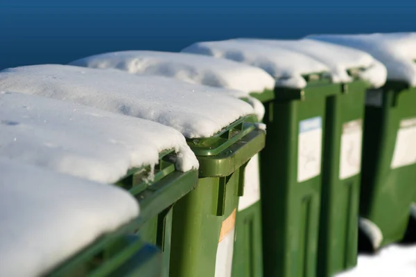
[[[394,169],[413,163],[416,163],[416,118],[401,120],[390,167]]]

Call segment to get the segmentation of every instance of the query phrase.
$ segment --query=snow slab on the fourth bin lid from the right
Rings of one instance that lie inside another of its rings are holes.
[[[163,75],[193,84],[247,93],[275,87],[272,76],[258,67],[188,53],[121,51],[93,55],[69,64],[96,69],[120,69],[134,74]]]

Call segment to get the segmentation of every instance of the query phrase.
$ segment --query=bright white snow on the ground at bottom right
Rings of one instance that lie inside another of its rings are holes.
[[[337,274],[336,277],[414,277],[416,276],[416,246],[392,244],[373,256],[358,256],[354,269]]]

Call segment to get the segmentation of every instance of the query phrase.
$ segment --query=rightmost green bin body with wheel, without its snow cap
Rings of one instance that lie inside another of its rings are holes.
[[[388,81],[367,91],[360,249],[401,240],[416,193],[416,88]]]

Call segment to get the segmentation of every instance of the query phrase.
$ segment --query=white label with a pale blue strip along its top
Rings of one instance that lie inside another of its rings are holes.
[[[320,174],[322,155],[322,118],[299,123],[297,145],[297,181],[306,181]]]

